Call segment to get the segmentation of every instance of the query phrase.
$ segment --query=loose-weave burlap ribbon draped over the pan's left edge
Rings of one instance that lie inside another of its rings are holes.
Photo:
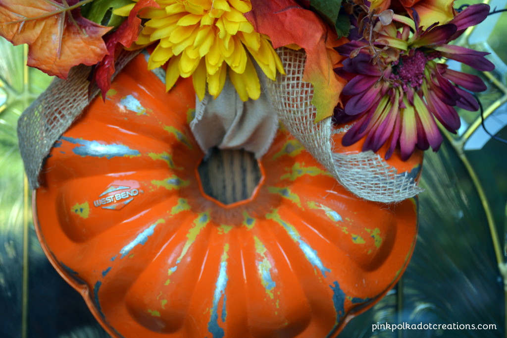
[[[113,78],[139,51],[122,51]],[[18,120],[19,151],[31,189],[39,187],[39,173],[55,141],[70,127],[99,92],[88,93],[91,67],[73,67],[67,80],[55,78],[49,87],[21,114]]]

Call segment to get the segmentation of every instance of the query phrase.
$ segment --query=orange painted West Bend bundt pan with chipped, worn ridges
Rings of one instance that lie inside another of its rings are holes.
[[[137,56],[63,134],[34,194],[46,255],[108,333],[336,336],[396,283],[415,199],[351,195],[280,129],[253,195],[223,205],[199,181],[192,81],[166,93],[146,69]]]

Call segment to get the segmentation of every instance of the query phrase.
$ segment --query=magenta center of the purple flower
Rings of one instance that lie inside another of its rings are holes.
[[[412,56],[402,57],[392,63],[393,73],[391,75],[394,86],[402,86],[404,91],[409,87],[419,90],[424,81],[424,67],[426,62],[438,57],[436,53],[424,54],[421,50],[416,49]]]

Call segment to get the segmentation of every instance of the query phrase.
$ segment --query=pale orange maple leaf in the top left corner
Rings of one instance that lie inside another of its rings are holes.
[[[107,54],[102,36],[111,29],[81,16],[79,0],[0,0],[0,35],[28,44],[27,65],[66,79],[71,67],[92,65]]]

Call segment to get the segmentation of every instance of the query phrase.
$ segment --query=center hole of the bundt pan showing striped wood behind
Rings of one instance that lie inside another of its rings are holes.
[[[251,197],[261,180],[252,152],[212,148],[198,167],[202,190],[225,205]]]

